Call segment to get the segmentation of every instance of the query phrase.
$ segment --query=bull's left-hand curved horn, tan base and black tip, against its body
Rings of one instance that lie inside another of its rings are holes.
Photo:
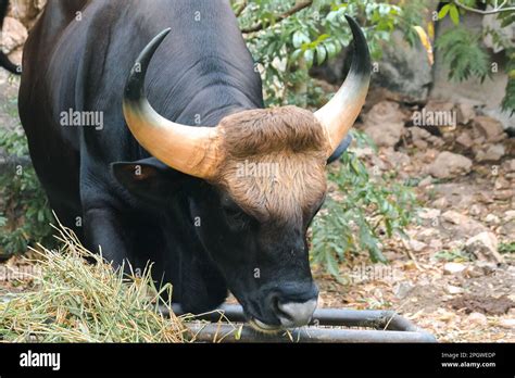
[[[216,173],[217,128],[171,122],[152,109],[145,94],[145,76],[169,28],[160,33],[138,56],[125,87],[125,121],[138,142],[166,165],[187,175],[210,178]]]

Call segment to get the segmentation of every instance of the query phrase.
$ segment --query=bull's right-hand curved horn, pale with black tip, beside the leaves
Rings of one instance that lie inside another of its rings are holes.
[[[327,130],[330,144],[328,156],[335,152],[360,115],[370,83],[370,53],[365,36],[354,18],[348,15],[346,18],[354,38],[352,66],[346,81],[335,97],[315,112],[315,117]]]

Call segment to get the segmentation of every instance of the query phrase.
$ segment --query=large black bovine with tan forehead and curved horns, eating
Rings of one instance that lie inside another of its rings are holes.
[[[116,267],[151,261],[185,311],[230,290],[262,330],[306,324],[318,294],[306,230],[369,78],[349,22],[352,72],[313,114],[263,109],[228,1],[50,1],[25,46],[20,114],[60,220]],[[269,182],[235,174],[264,162]]]

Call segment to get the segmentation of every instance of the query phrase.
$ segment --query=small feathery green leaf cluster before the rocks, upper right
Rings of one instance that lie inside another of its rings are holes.
[[[475,76],[483,80],[490,75],[490,59],[480,46],[480,34],[457,26],[447,30],[437,40],[436,47],[451,70],[451,79],[461,81]]]

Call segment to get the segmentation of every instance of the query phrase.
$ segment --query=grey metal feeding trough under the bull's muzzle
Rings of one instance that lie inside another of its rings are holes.
[[[186,315],[178,305],[173,310],[176,315]],[[319,308],[310,326],[275,335],[258,332],[244,323],[241,306],[226,304],[192,316],[187,326],[199,342],[437,342],[432,335],[393,311]]]

